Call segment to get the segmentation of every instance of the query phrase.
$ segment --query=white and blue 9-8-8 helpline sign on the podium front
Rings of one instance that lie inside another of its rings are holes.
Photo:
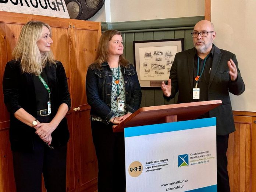
[[[217,192],[216,118],[124,133],[127,192]]]

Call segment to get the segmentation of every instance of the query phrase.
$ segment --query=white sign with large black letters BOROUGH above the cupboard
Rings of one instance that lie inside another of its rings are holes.
[[[70,18],[64,0],[0,0],[0,11]]]

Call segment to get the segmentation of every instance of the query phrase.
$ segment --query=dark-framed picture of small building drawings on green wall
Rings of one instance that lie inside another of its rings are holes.
[[[169,78],[175,54],[184,39],[134,41],[134,64],[142,87],[160,87]]]

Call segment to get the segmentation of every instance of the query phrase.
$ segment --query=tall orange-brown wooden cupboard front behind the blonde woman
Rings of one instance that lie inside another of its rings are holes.
[[[85,92],[87,68],[93,62],[101,34],[100,23],[46,16],[6,13],[0,11],[0,99],[3,101],[2,78],[6,62],[11,60],[22,26],[30,20],[43,21],[52,28],[56,60],[63,63],[71,94],[71,109],[66,117],[70,130],[67,147],[66,191],[97,189],[97,158],[92,142],[89,112]],[[74,108],[80,107],[75,112]],[[12,154],[10,150],[9,114],[0,102],[0,192],[14,192]],[[46,190],[43,188],[43,192]]]

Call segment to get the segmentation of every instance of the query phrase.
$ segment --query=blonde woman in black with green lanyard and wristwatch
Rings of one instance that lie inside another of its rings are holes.
[[[50,46],[51,28],[29,21],[21,31],[3,77],[10,112],[10,143],[17,192],[65,192],[71,106],[67,77]]]

